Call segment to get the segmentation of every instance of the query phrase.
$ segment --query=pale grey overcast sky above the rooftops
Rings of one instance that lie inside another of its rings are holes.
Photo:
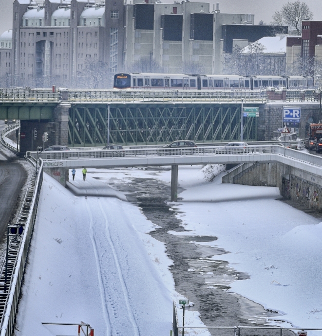
[[[165,2],[172,3],[170,0]],[[201,2],[206,1],[201,0]],[[219,9],[222,13],[255,14],[256,24],[260,20],[264,20],[266,24],[269,24],[274,12],[279,10],[287,0],[211,0],[210,10],[213,8],[212,4],[216,2],[219,2]],[[0,34],[12,29],[12,3],[13,0],[0,0]],[[306,0],[306,3],[314,14],[314,20],[322,21],[321,1]]]

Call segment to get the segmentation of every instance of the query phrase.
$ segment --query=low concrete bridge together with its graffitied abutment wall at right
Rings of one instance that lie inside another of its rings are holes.
[[[33,153],[35,155],[36,153]],[[171,166],[171,200],[176,201],[178,165],[234,164],[223,183],[279,187],[286,198],[307,207],[322,209],[322,157],[284,148],[280,145],[257,145],[246,148],[204,146],[195,148],[140,148],[118,150],[80,150],[43,152],[45,172],[61,184],[68,181],[71,168],[112,168]],[[303,193],[303,190],[305,193]],[[314,200],[312,200],[314,195]]]

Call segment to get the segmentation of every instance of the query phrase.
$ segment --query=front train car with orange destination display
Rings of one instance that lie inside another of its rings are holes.
[[[197,75],[166,73],[117,73],[116,89],[198,89]]]

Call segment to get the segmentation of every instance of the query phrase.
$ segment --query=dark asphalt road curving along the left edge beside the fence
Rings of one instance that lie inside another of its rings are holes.
[[[0,125],[0,131],[3,127]],[[0,152],[0,237],[12,217],[25,178],[22,165]]]

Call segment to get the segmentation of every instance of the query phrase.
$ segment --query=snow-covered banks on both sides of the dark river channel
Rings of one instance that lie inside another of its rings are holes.
[[[144,169],[89,169],[86,182],[80,176],[77,170],[71,183],[84,189],[111,178],[152,177]],[[153,177],[170,183],[170,171]],[[172,209],[187,235],[218,237],[211,245],[230,252],[213,260],[250,275],[230,283],[229,291],[283,313],[280,319],[294,326],[322,327],[320,221],[276,200],[277,188],[203,177],[200,167],[179,167],[186,190]],[[77,197],[44,175],[15,335],[76,335],[41,322],[80,320],[99,336],[170,335],[172,300],[180,295],[164,244],[146,234],[155,228],[122,197]],[[186,323],[200,323],[198,313],[188,312]]]

